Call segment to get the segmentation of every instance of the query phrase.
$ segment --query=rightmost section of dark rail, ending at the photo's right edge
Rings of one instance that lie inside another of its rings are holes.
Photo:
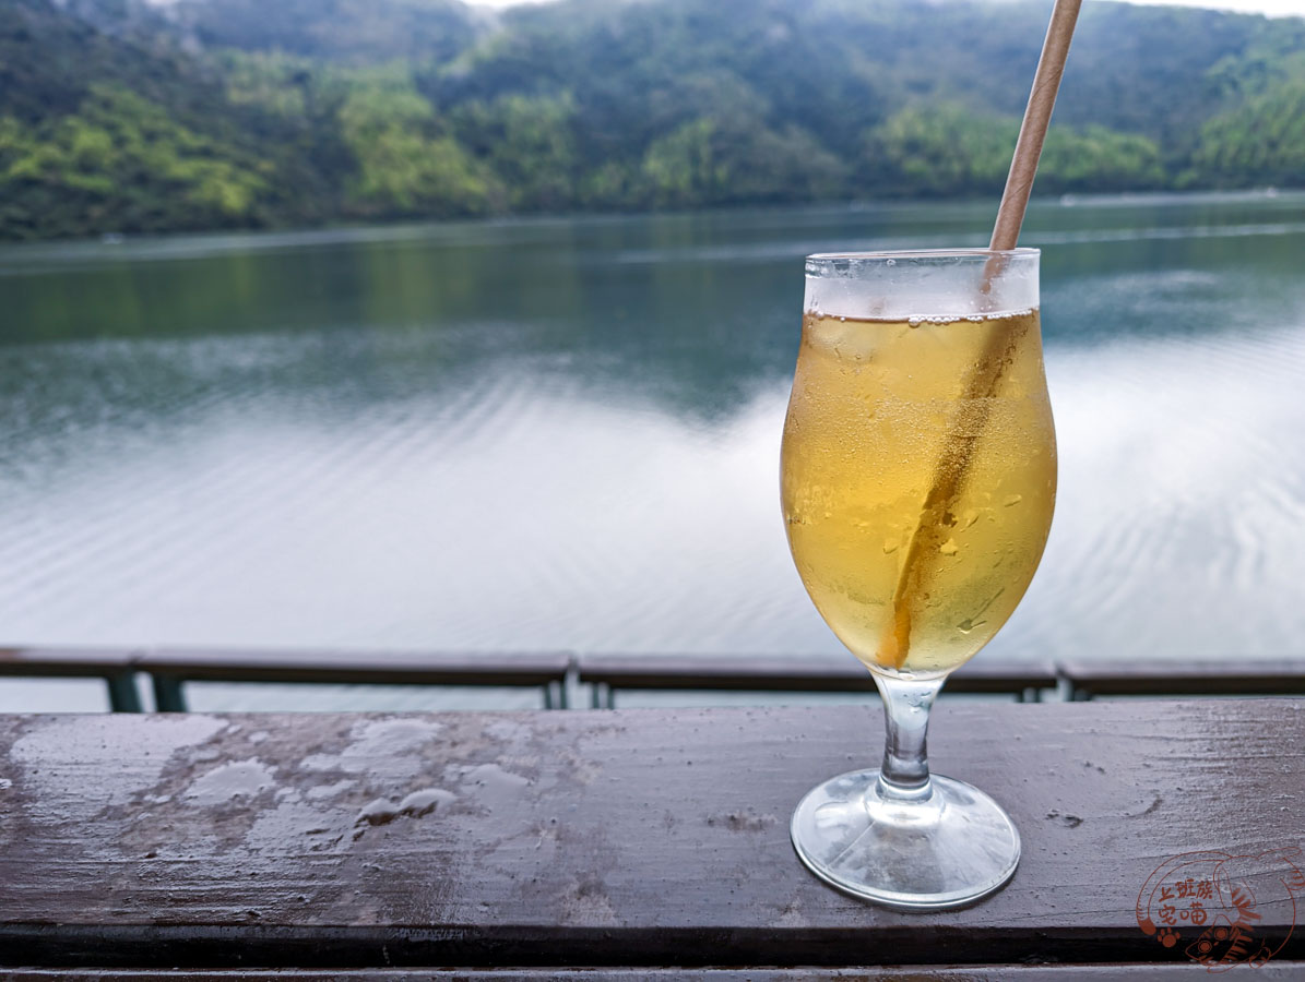
[[[1062,661],[1082,695],[1300,695],[1305,661]]]

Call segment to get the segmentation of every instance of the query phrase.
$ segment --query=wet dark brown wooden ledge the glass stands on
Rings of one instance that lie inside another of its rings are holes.
[[[787,831],[881,732],[870,707],[0,717],[0,961],[1199,972],[1138,929],[1147,876],[1305,839],[1302,700],[946,706],[934,766],[1024,858],[967,910],[882,910]],[[1295,908],[1262,893],[1276,944]]]

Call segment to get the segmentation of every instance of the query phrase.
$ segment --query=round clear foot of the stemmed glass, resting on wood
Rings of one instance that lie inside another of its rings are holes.
[[[840,775],[793,812],[793,848],[833,887],[900,910],[964,906],[1001,889],[1019,863],[1019,832],[992,798],[934,775],[928,797],[880,794],[880,772]]]

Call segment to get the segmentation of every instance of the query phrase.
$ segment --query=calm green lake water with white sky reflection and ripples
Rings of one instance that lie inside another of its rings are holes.
[[[992,214],[0,248],[0,643],[850,657],[779,516],[801,258]],[[1305,194],[1037,202],[1023,243],[1061,490],[987,652],[1305,657]]]

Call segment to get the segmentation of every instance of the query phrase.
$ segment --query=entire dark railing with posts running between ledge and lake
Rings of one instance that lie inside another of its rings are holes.
[[[187,709],[187,682],[502,686],[539,689],[544,708],[565,709],[589,690],[594,708],[621,691],[873,691],[852,659],[793,655],[576,655],[555,652],[239,651],[198,648],[0,648],[0,676],[102,678],[115,712],[141,712],[137,676],[149,678],[155,708]],[[947,692],[994,692],[1017,702],[1047,694],[1082,702],[1117,695],[1301,695],[1305,659],[1218,662],[1083,662],[976,659],[947,681]]]

